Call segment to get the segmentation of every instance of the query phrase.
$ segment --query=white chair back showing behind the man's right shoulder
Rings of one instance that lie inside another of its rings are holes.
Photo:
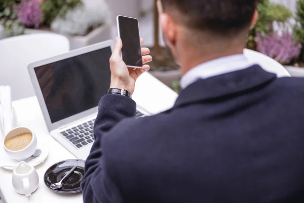
[[[267,72],[277,74],[278,78],[290,77],[285,67],[269,56],[250,49],[244,49],[244,55],[251,63],[260,65]]]

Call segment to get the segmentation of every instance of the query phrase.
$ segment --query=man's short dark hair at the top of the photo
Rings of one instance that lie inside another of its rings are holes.
[[[250,26],[257,0],[161,0],[164,11],[186,27],[220,36]]]

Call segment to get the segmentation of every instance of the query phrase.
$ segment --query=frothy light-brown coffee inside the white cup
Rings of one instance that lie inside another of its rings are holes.
[[[4,145],[7,149],[11,151],[18,151],[27,147],[30,144],[32,138],[32,133],[26,132],[18,134],[18,136],[15,136],[13,138],[7,139],[4,142]]]

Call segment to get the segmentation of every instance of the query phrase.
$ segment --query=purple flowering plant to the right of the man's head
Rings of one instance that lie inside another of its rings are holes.
[[[301,43],[293,40],[293,32],[283,30],[279,33],[271,26],[270,28],[263,36],[260,33],[256,34],[257,51],[282,64],[289,64],[292,59],[300,55]]]

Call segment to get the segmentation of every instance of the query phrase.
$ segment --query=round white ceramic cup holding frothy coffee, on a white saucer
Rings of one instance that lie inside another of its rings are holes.
[[[8,148],[6,148],[5,141],[7,139],[13,138],[22,133],[31,133],[32,134],[32,140],[25,148],[18,150],[18,151],[12,151],[12,150],[9,150]],[[31,131],[30,129],[28,129],[26,127],[17,127],[17,128],[12,129],[11,131],[9,131],[9,133],[7,133],[7,135],[4,137],[3,146],[9,157],[11,157],[12,159],[15,159],[17,161],[22,161],[22,160],[30,157],[31,155],[33,155],[34,152],[36,151],[37,138],[35,136],[35,133],[33,131]]]

